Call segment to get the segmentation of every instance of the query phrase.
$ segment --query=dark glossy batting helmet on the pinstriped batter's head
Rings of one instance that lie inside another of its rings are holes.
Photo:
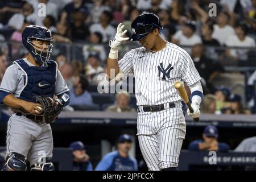
[[[141,40],[149,32],[154,30],[154,28],[163,29],[158,16],[154,13],[144,13],[137,16],[137,18],[133,20],[133,23],[131,23],[133,35],[131,35],[130,41]]]

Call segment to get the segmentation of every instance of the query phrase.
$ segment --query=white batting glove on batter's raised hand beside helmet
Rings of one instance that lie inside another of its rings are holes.
[[[124,25],[122,23],[119,23],[117,26],[117,33],[115,34],[114,40],[109,41],[109,46],[112,49],[118,49],[118,47],[121,45],[121,43],[125,40],[128,40],[129,38],[124,38],[123,36],[126,34],[127,30],[123,31]]]

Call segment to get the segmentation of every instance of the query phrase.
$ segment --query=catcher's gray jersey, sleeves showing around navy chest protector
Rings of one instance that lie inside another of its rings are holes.
[[[30,61],[24,59],[26,63],[30,66],[33,66]],[[43,65],[42,65],[43,66]],[[0,86],[0,90],[14,94],[15,97],[19,97],[19,94],[22,92],[25,83],[24,77],[25,73],[18,67],[17,64],[13,64],[6,69],[5,75]],[[56,72],[56,82],[55,82],[55,94],[60,95],[64,92],[67,92],[68,86],[62,77],[59,69]]]

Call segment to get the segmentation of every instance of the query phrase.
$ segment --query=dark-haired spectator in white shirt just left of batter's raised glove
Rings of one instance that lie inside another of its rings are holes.
[[[102,35],[102,42],[109,42],[114,39],[115,28],[110,25],[112,21],[112,13],[110,11],[103,11],[100,16],[100,23],[94,23],[90,26],[90,33],[100,32]]]

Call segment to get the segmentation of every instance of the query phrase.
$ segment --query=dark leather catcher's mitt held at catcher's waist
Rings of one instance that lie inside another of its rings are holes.
[[[36,96],[36,101],[42,106],[44,122],[48,124],[55,121],[62,109],[61,102],[55,98],[47,96]],[[58,104],[56,104],[56,102],[58,102]]]

